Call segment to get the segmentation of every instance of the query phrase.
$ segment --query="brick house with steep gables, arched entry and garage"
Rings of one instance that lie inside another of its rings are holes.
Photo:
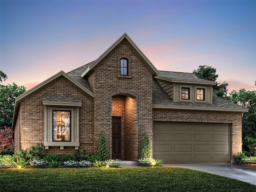
[[[230,163],[242,149],[247,109],[217,97],[214,84],[157,70],[124,33],[95,61],[16,98],[16,149],[40,144],[46,154],[96,154],[104,132],[110,158],[138,160],[148,134],[153,157],[164,162]]]

